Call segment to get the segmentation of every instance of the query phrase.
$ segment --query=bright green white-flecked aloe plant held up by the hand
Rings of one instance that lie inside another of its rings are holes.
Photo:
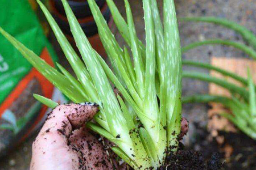
[[[164,0],[162,24],[156,0],[143,0],[146,45],[138,39],[129,2],[127,22],[112,0],[107,0],[113,19],[130,46],[121,48],[94,0],[88,0],[102,44],[113,71],[92,48],[66,0],[62,0],[81,58],[61,32],[47,8],[38,1],[76,77],[64,67],[61,72],[47,65],[34,52],[0,28],[23,56],[74,103],[100,105],[88,128],[115,143],[112,150],[134,169],[157,169],[166,152],[176,151],[181,129],[181,48],[175,5]],[[122,94],[115,96],[111,83]],[[46,97],[36,99],[56,107]],[[159,101],[159,102],[158,102]]]

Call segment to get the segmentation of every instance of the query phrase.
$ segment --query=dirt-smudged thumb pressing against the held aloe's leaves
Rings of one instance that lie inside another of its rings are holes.
[[[33,143],[31,169],[78,169],[79,159],[68,146],[68,137],[97,111],[95,104],[60,105],[53,109]]]

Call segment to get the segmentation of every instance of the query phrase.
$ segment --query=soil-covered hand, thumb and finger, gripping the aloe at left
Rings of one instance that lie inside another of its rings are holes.
[[[31,170],[113,169],[102,143],[83,126],[97,112],[91,103],[53,109],[33,143]]]

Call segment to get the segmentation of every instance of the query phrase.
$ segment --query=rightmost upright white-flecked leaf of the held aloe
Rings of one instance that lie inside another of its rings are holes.
[[[181,121],[181,108],[176,108],[177,112],[174,112],[176,106],[181,106],[181,101],[177,100],[177,96],[181,94],[181,50],[180,50],[180,38],[179,28],[177,25],[176,11],[174,0],[164,0],[164,51],[166,60],[164,88],[166,89],[166,115],[167,115],[167,140],[168,145],[175,146],[178,144],[177,138],[180,132]],[[174,114],[177,114],[176,117]],[[175,116],[177,119],[173,120]],[[173,135],[174,131],[176,132]]]

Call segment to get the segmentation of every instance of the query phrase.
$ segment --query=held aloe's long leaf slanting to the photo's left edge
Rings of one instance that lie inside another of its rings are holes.
[[[60,74],[59,71],[49,66],[46,61],[38,57],[30,49],[26,48],[18,40],[14,39],[9,33],[5,32],[0,27],[0,33],[6,37],[7,40],[19,50],[20,53],[41,73],[43,74],[55,87],[59,88],[63,94],[65,94],[69,99],[75,103],[84,102],[84,97],[79,93],[79,91],[69,83],[69,80],[65,78],[63,74]]]

